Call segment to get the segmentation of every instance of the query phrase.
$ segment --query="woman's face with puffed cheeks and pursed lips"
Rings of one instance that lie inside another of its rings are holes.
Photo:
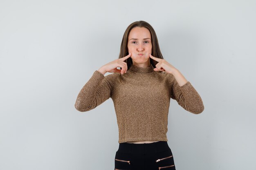
[[[151,35],[145,27],[134,27],[128,35],[128,52],[131,53],[132,62],[147,63],[152,52]],[[150,62],[149,62],[150,63]]]

